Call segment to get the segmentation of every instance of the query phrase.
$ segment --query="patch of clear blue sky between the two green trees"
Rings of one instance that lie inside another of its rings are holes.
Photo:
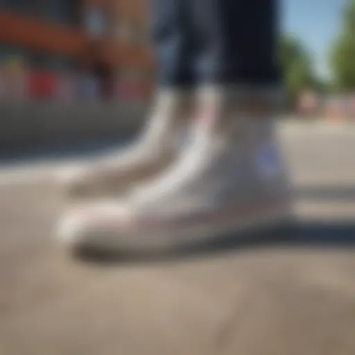
[[[341,28],[341,10],[346,0],[282,0],[284,31],[300,37],[313,53],[316,70],[328,76],[329,46]]]

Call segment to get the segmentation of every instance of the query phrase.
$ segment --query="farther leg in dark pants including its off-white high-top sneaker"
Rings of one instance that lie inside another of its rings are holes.
[[[61,178],[73,198],[123,193],[162,170],[179,154],[189,121],[189,101],[196,83],[191,55],[190,0],[150,0],[152,37],[157,59],[157,94],[146,128],[125,150]]]

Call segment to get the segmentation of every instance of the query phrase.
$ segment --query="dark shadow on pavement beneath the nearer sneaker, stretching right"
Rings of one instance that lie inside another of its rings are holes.
[[[155,263],[213,257],[217,254],[245,252],[260,248],[355,248],[355,221],[295,221],[277,230],[260,230],[243,235],[219,236],[213,241],[169,252],[139,254],[97,252],[80,249],[73,257],[89,263]]]

